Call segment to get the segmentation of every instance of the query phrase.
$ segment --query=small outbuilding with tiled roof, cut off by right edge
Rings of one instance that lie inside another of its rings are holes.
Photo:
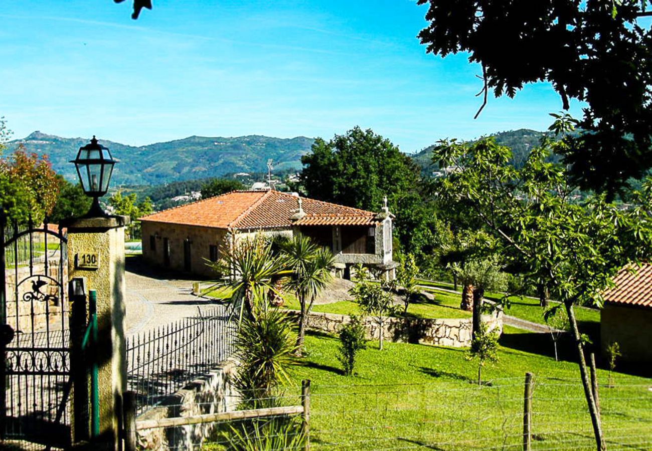
[[[622,359],[652,362],[652,263],[631,265],[614,279],[604,293],[600,312],[602,351],[618,342]]]

